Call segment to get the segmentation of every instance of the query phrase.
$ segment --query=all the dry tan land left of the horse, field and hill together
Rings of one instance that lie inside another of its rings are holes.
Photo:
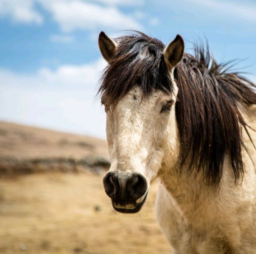
[[[105,141],[0,122],[0,253],[170,254],[157,183],[140,213],[116,213],[108,166]]]

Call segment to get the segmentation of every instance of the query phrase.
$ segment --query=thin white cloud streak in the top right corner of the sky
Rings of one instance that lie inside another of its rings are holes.
[[[187,0],[192,4],[197,4],[208,8],[211,11],[217,11],[218,14],[226,14],[236,19],[256,22],[256,5],[246,5],[235,1],[224,2],[220,0]]]

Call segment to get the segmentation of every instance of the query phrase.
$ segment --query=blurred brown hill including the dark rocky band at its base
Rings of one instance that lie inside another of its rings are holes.
[[[0,176],[84,169],[101,172],[108,167],[104,140],[0,122]]]

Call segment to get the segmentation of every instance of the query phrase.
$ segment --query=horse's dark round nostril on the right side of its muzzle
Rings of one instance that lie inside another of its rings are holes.
[[[128,193],[134,198],[139,199],[142,197],[148,188],[146,178],[139,174],[134,174],[127,182],[126,185]]]

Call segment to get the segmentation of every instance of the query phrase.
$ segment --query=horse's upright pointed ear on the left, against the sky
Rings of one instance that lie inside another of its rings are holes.
[[[99,34],[99,48],[104,59],[109,63],[114,58],[117,43],[106,35],[103,31]]]

